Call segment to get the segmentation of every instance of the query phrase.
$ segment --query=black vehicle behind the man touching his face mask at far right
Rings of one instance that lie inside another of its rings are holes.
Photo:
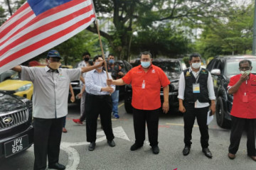
[[[230,77],[240,74],[239,62],[245,59],[252,61],[252,74],[256,74],[256,57],[249,55],[215,57],[206,67],[213,77],[216,120],[221,128],[230,127],[230,111],[233,105],[233,95],[227,92]]]

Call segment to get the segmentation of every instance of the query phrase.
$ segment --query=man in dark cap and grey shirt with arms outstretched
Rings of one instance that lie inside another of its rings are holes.
[[[50,50],[44,68],[20,65],[13,68],[21,72],[22,80],[33,82],[35,170],[46,169],[47,157],[49,169],[65,169],[58,159],[63,120],[68,113],[70,81],[80,79],[81,73],[101,67],[103,63],[81,69],[61,69],[60,59],[58,51]]]

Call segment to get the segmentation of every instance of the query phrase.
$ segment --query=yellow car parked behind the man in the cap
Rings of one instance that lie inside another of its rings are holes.
[[[19,79],[18,72],[16,72],[11,76],[11,79],[7,79],[0,83],[0,91],[32,100],[33,84],[31,81],[23,81]]]

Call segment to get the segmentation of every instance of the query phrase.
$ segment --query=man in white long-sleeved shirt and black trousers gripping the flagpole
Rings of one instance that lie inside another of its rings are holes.
[[[102,61],[102,56],[93,58],[94,65]],[[112,79],[110,73],[108,76]],[[103,131],[107,137],[107,144],[110,145],[110,147],[115,146],[111,122],[112,100],[110,96],[110,94],[114,92],[114,89],[114,85],[107,86],[107,74],[102,67],[87,72],[85,77],[85,112],[87,117],[86,137],[87,142],[90,142],[88,147],[90,151],[93,151],[96,146],[97,118],[99,115]]]

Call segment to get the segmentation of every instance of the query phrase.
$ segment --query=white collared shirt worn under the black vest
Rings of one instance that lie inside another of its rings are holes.
[[[198,77],[198,74],[201,72],[202,67],[199,69],[198,72],[194,72],[191,67],[189,67],[189,72],[192,72],[194,77]],[[184,92],[185,92],[185,86],[186,81],[184,77],[184,73],[181,73],[181,77],[178,82],[178,98],[181,98],[184,100]],[[208,89],[208,96],[210,100],[215,100],[215,94],[213,89],[213,78],[210,75],[210,72],[208,72],[208,79],[207,79],[207,89]],[[200,103],[198,100],[195,102],[195,108],[205,108],[210,106],[209,103]]]

